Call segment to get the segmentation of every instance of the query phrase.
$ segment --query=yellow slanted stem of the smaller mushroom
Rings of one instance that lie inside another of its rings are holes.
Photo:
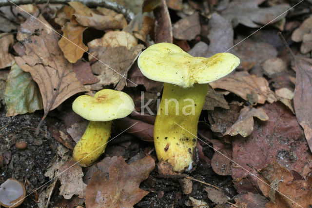
[[[105,143],[107,143],[110,138],[111,128],[112,121],[90,121],[87,129],[74,148],[73,158],[79,162],[81,166],[90,166],[94,163],[105,151]]]

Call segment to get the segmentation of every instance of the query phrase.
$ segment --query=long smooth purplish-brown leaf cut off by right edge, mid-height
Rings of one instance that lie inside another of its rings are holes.
[[[296,59],[296,58],[295,58]],[[293,104],[298,123],[302,126],[312,150],[312,59],[297,59]]]

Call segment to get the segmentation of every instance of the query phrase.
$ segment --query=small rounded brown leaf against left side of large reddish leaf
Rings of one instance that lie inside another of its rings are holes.
[[[218,175],[231,175],[232,148],[219,149],[211,159],[211,166]]]

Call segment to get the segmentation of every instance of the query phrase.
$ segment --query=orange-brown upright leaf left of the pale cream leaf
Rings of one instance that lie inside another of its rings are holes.
[[[71,62],[77,62],[88,47],[82,42],[83,31],[87,27],[82,27],[71,22],[67,22],[62,28],[63,36],[58,44],[63,51],[65,58]]]

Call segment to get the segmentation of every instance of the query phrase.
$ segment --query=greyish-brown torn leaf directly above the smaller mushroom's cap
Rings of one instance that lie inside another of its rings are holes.
[[[133,62],[136,61],[137,56],[143,48],[145,47],[142,44],[138,44],[130,50],[127,50],[124,46],[114,48],[99,46],[92,48],[90,53],[96,51],[98,53],[97,58],[102,62],[105,62],[109,67],[99,61],[93,63],[91,70],[94,74],[98,74],[96,77],[99,79],[99,82],[85,86],[93,90],[99,90],[105,85],[116,85],[120,80],[124,79],[122,76],[127,76],[128,70]]]

